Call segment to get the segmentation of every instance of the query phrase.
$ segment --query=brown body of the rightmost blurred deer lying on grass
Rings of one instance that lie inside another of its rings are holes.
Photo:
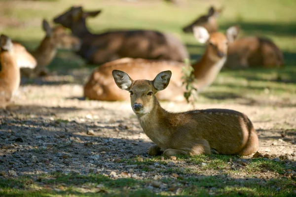
[[[239,69],[259,66],[278,68],[284,66],[283,53],[272,40],[248,36],[228,45],[228,57],[224,67]]]

